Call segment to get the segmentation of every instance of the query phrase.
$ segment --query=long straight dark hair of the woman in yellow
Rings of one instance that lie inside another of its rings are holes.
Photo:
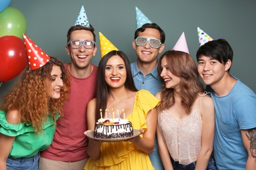
[[[98,75],[97,75],[97,85],[96,85],[96,120],[100,118],[99,111],[102,109],[103,111],[106,109],[106,103],[108,99],[109,87],[105,81],[105,71],[106,71],[106,63],[108,59],[112,58],[112,56],[119,56],[125,62],[125,69],[127,72],[127,78],[125,80],[125,88],[131,90],[133,92],[137,92],[133,81],[133,75],[131,73],[131,64],[127,56],[122,51],[112,50],[108,52],[105,56],[100,59],[100,63],[98,63]],[[97,114],[98,113],[98,114]]]

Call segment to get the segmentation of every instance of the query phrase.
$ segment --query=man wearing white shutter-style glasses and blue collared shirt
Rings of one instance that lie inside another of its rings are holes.
[[[153,95],[161,90],[163,80],[158,76],[158,54],[163,52],[165,47],[165,33],[157,24],[144,24],[135,31],[133,48],[137,54],[137,61],[131,63],[133,80],[137,90],[145,89]],[[163,169],[160,154],[158,152],[158,142],[155,141],[155,147],[150,160],[156,170]]]

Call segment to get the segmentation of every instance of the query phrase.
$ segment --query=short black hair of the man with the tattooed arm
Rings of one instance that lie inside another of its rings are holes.
[[[200,46],[198,52],[196,52],[196,59],[198,60],[202,55],[209,56],[223,64],[225,64],[228,59],[230,59],[230,61],[233,60],[233,50],[230,44],[224,39],[209,41]],[[228,69],[228,72],[229,71],[230,68]]]

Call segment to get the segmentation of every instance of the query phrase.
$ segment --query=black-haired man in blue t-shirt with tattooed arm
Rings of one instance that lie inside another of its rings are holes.
[[[214,157],[217,169],[256,169],[256,95],[230,75],[233,50],[227,41],[198,49],[198,73],[215,105]]]

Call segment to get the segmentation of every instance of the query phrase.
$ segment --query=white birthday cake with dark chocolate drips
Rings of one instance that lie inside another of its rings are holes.
[[[95,124],[95,138],[118,139],[133,136],[133,126],[127,119],[100,118]]]

